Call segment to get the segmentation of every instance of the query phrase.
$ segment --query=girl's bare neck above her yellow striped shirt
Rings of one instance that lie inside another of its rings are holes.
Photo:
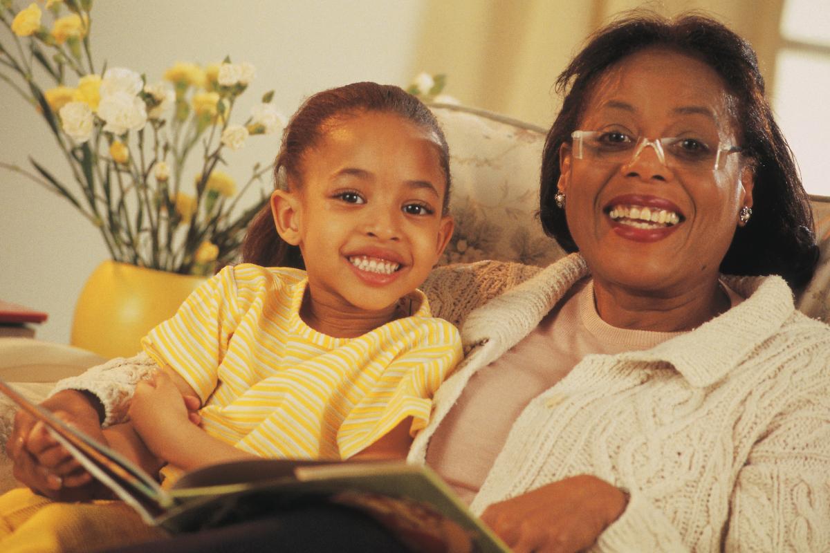
[[[300,306],[300,318],[305,324],[317,332],[335,338],[363,336],[366,332],[371,332],[403,316],[404,313],[399,312],[397,303],[393,303],[382,311],[347,309],[314,301],[310,298],[307,289]]]

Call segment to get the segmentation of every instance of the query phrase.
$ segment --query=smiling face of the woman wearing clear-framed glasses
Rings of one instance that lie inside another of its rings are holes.
[[[691,138],[684,148],[698,141],[740,146],[730,101],[720,77],[701,61],[641,51],[598,78],[579,129],[601,131],[611,141],[680,137]],[[652,146],[618,163],[574,153],[568,143],[560,151],[559,190],[567,196],[571,235],[595,279],[661,296],[715,283],[738,212],[752,205],[752,171],[740,154],[722,153],[716,170],[691,170],[668,151],[666,167]],[[643,208],[652,221],[643,221]]]

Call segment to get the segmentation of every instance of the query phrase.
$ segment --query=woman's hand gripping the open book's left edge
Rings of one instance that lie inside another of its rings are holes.
[[[92,401],[83,392],[63,390],[43,401],[41,406],[91,438],[107,444],[101,434],[99,410]],[[44,424],[22,410],[15,415],[6,451],[14,465],[14,478],[46,497],[77,501],[109,495],[105,488],[93,482],[90,473],[81,468]]]

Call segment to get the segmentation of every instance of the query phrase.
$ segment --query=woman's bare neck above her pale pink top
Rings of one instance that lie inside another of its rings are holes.
[[[681,293],[642,292],[593,281],[599,317],[613,327],[680,332],[701,326],[730,308],[729,295],[718,281]]]

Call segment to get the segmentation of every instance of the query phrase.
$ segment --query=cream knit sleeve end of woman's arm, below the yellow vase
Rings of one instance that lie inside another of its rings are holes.
[[[58,381],[51,395],[62,390],[85,390],[94,394],[104,405],[103,426],[110,426],[127,420],[129,400],[133,397],[135,386],[158,370],[159,366],[145,353],[135,357],[117,357],[78,376]]]

